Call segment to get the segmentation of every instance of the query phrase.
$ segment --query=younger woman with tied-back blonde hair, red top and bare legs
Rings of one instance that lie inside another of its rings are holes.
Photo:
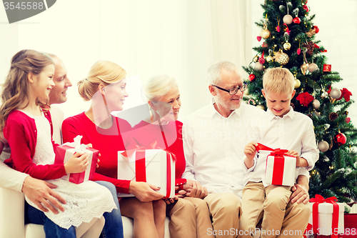
[[[63,139],[71,142],[77,135],[83,135],[84,144],[91,143],[101,152],[94,180],[111,182],[117,192],[134,194],[135,197],[119,202],[121,214],[134,219],[134,237],[164,237],[165,203],[161,200],[164,196],[155,191],[159,187],[116,179],[117,152],[132,146],[129,122],[111,115],[112,111],[123,110],[129,96],[125,76],[126,71],[111,61],[98,61],[91,67],[86,79],[78,83],[79,94],[84,100],[91,100],[91,106],[88,111],[64,120]]]

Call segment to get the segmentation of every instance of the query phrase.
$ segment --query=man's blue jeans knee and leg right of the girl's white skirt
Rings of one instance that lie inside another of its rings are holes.
[[[104,212],[103,217],[106,219],[103,229],[104,238],[124,238],[123,222],[121,221],[121,212],[119,208],[118,194],[116,193],[116,187],[111,182],[96,181],[97,184],[109,189],[113,195],[114,202],[118,209],[113,209],[111,212]]]

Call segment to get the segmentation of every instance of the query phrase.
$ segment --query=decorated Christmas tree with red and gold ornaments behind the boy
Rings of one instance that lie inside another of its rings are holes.
[[[291,106],[311,117],[320,150],[318,162],[310,172],[310,197],[337,197],[338,202],[357,199],[357,130],[348,117],[353,101],[348,89],[337,89],[338,72],[331,71],[324,52],[316,40],[315,15],[309,16],[307,0],[266,0],[257,36],[261,46],[254,47],[256,56],[243,69],[249,74],[248,94],[244,99],[266,109],[261,94],[264,69],[284,67],[295,76],[296,96]],[[255,64],[254,64],[255,63]]]

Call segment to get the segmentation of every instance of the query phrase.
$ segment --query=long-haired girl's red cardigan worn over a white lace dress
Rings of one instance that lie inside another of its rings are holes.
[[[51,123],[49,111],[45,116]],[[10,167],[36,179],[59,179],[66,175],[64,164],[37,165],[32,162],[36,149],[37,130],[35,120],[24,112],[11,111],[4,127],[4,137],[11,148],[10,159],[5,160]],[[58,146],[53,141],[52,144],[54,149]]]

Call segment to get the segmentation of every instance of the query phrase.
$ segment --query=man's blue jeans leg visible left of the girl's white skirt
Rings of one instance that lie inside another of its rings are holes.
[[[69,229],[64,229],[59,227],[57,224],[54,224],[44,212],[30,206],[27,202],[25,204],[25,224],[41,224],[44,225],[44,232],[46,237],[49,238],[76,238],[76,229],[75,227],[69,227]]]

